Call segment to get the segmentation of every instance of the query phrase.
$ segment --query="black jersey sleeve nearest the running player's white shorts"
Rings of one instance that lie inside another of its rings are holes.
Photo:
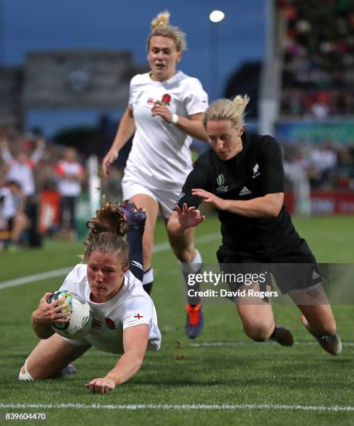
[[[208,178],[202,170],[202,167],[198,164],[194,164],[193,170],[186,178],[186,182],[182,187],[182,192],[177,198],[176,205],[182,210],[184,203],[188,207],[198,208],[202,203],[202,198],[192,195],[192,189],[207,189]]]

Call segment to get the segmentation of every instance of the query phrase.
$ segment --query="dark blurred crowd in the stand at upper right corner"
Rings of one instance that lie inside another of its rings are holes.
[[[286,21],[283,116],[348,116],[354,111],[353,0],[277,0]]]

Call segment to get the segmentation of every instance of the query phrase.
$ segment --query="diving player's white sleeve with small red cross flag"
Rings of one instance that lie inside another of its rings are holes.
[[[139,297],[129,301],[122,315],[123,330],[140,324],[152,324],[154,305],[152,300]]]

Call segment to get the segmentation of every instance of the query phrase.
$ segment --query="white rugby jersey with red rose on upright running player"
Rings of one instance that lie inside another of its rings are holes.
[[[167,81],[154,81],[149,73],[130,82],[129,107],[136,132],[124,171],[124,180],[143,182],[152,189],[179,191],[192,169],[192,138],[177,126],[152,116],[156,100],[172,113],[188,117],[208,107],[208,95],[198,79],[178,71]]]

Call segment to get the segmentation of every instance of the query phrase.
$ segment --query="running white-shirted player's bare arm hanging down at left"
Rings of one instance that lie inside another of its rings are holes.
[[[120,125],[118,127],[117,133],[115,134],[115,139],[111,146],[111,149],[108,151],[106,157],[104,157],[102,162],[103,175],[106,178],[109,176],[108,167],[111,166],[113,161],[118,158],[118,154],[122,147],[129,141],[129,138],[135,132],[135,122],[133,116],[133,110],[130,107],[127,107],[125,110],[122,120],[120,120]]]

